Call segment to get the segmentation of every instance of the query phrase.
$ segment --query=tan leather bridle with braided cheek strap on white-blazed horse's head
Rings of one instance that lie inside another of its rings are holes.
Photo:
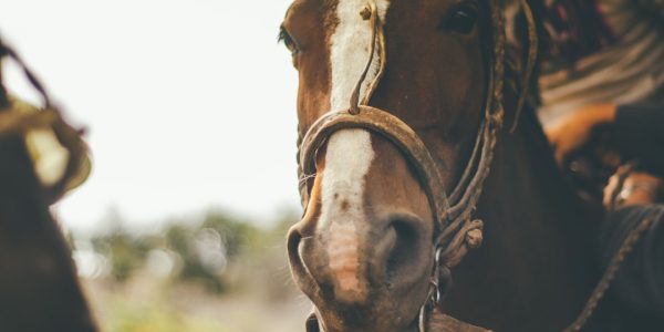
[[[489,174],[497,133],[502,126],[505,114],[502,105],[505,18],[500,1],[491,0],[495,50],[490,56],[492,64],[488,66],[489,80],[485,97],[485,114],[466,168],[455,188],[447,195],[437,164],[416,132],[387,111],[367,105],[386,63],[383,23],[375,0],[367,0],[367,2],[366,8],[360,14],[373,27],[370,59],[353,91],[351,106],[347,110],[324,114],[301,138],[298,158],[301,176],[300,194],[305,209],[309,203],[311,179],[315,177],[318,151],[335,132],[349,128],[366,129],[388,139],[401,151],[422,180],[437,229],[432,243],[435,263],[429,293],[419,311],[419,330],[426,331],[427,315],[439,303],[446,286],[450,284],[448,269],[458,263],[468,249],[481,245],[484,224],[479,219],[474,219],[473,215]],[[363,98],[360,100],[361,87],[376,53],[380,56],[378,73],[369,84]]]

